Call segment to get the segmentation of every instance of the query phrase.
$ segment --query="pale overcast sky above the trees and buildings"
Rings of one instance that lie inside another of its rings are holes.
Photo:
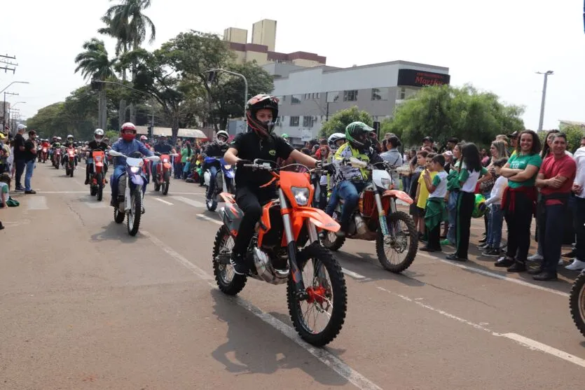
[[[15,55],[16,73],[0,71],[22,116],[64,100],[85,81],[74,74],[83,41],[98,36],[108,0],[2,1],[0,54]],[[504,102],[525,106],[525,126],[538,127],[543,76],[552,70],[544,128],[558,120],[585,122],[582,0],[296,0],[273,2],[152,0],[158,48],[179,32],[223,34],[277,20],[276,50],[323,55],[327,64],[351,67],[406,60],[448,67],[453,85],[472,83]],[[113,53],[113,41],[103,37]],[[0,64],[2,66],[2,64]]]

